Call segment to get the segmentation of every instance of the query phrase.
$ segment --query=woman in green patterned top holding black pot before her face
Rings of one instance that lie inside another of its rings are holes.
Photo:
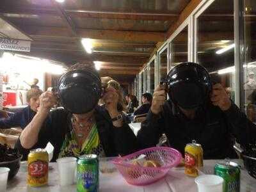
[[[29,150],[45,148],[49,141],[52,161],[83,154],[114,157],[136,150],[136,136],[117,109],[118,93],[109,86],[102,95],[99,74],[90,64],[73,65],[60,78],[57,91],[64,109],[50,112],[56,93],[44,92],[38,113],[20,134],[15,147],[25,159]],[[105,107],[98,105],[100,97]]]

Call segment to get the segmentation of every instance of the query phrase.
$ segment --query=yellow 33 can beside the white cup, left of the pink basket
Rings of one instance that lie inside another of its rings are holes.
[[[36,148],[28,155],[27,183],[31,187],[40,187],[48,183],[49,157],[46,150]]]

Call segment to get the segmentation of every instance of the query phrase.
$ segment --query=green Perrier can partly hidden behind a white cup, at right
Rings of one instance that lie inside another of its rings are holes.
[[[240,191],[240,169],[237,163],[221,161],[214,166],[214,174],[224,179],[223,192]]]

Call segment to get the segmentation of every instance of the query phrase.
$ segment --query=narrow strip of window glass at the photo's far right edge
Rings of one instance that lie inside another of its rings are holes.
[[[244,99],[246,114],[256,122],[256,1],[244,0]]]

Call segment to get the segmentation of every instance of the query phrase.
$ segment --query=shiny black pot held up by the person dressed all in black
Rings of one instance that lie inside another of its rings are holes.
[[[197,63],[181,63],[166,76],[168,96],[183,109],[198,108],[211,92],[211,80],[207,70]]]

